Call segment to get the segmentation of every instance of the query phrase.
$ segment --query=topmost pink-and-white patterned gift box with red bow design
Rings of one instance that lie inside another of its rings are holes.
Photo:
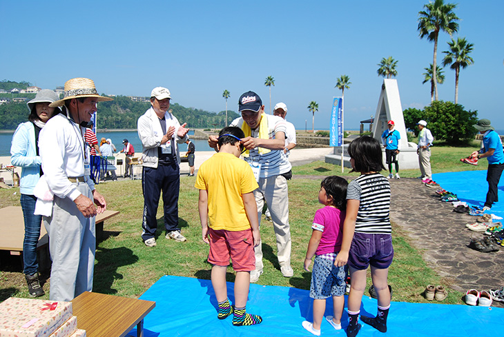
[[[47,337],[71,317],[71,302],[11,297],[0,303],[0,337]]]

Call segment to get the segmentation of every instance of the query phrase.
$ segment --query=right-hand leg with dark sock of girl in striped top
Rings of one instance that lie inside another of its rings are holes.
[[[371,278],[373,279],[374,289],[378,295],[378,313],[376,317],[361,316],[362,322],[371,325],[378,331],[387,332],[387,316],[390,308],[390,292],[387,282],[389,269],[378,269],[371,267]]]

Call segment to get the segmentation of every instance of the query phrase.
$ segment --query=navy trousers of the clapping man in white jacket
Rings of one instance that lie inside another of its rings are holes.
[[[179,190],[180,169],[173,165],[144,167],[142,172],[142,192],[144,193],[144,217],[142,219],[142,239],[155,237],[157,229],[157,205],[163,192],[164,227],[166,232],[180,230],[179,225]]]

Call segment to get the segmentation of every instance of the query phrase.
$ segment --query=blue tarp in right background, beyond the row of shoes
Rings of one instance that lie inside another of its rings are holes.
[[[504,174],[498,183],[499,203],[492,205],[492,211],[497,216],[504,217]],[[460,201],[469,205],[483,207],[488,192],[487,171],[446,172],[432,175],[445,190],[455,193]]]

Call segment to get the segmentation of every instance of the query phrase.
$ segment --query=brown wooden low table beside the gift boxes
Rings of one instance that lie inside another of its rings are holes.
[[[77,328],[87,337],[123,337],[137,325],[137,337],[144,336],[144,317],[156,306],[151,300],[84,292],[72,300]]]

